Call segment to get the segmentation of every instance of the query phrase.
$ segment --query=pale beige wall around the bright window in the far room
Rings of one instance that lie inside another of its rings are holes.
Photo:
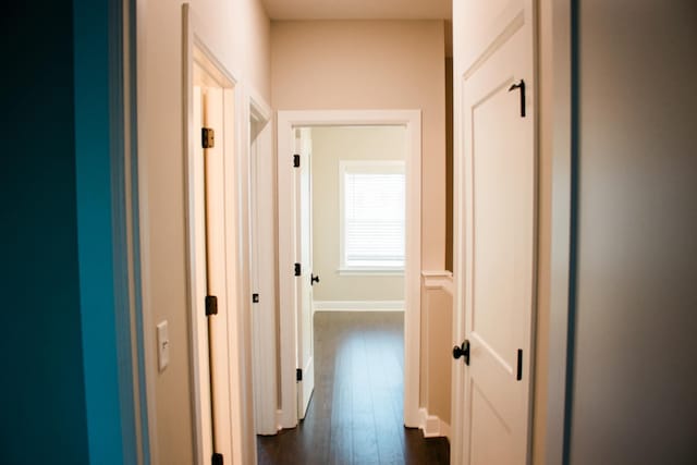
[[[340,160],[404,160],[400,126],[314,127],[313,269],[321,277],[316,301],[403,301],[404,276],[339,274]]]

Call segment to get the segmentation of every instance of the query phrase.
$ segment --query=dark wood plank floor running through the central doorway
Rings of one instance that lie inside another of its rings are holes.
[[[307,416],[258,437],[259,464],[448,464],[447,439],[403,426],[403,331],[401,313],[316,314]]]

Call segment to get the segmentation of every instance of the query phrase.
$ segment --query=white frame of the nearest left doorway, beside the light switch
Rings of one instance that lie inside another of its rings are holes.
[[[249,271],[248,250],[245,241],[248,240],[246,229],[248,228],[246,188],[248,176],[243,129],[248,124],[249,115],[245,105],[243,105],[244,94],[236,74],[228,70],[217,58],[216,53],[206,40],[206,27],[203,21],[195,14],[188,3],[182,4],[182,103],[183,103],[183,125],[184,125],[184,173],[186,192],[186,257],[187,257],[187,295],[188,295],[188,344],[189,344],[189,369],[192,383],[192,412],[193,412],[193,444],[194,455],[198,463],[208,463],[210,456],[206,456],[205,446],[207,438],[207,424],[210,419],[205,417],[203,404],[205,394],[198,379],[199,371],[199,342],[204,335],[207,340],[207,328],[201,328],[196,321],[194,311],[200,307],[199,302],[194,302],[196,296],[196,270],[195,253],[196,241],[194,236],[195,205],[203,192],[194,189],[193,179],[193,157],[196,154],[195,144],[200,140],[194,124],[193,110],[193,86],[194,86],[194,62],[215,76],[222,85],[223,89],[223,157],[224,157],[224,207],[220,215],[224,218],[225,241],[225,289],[228,295],[228,314],[225,332],[228,353],[225,358],[230,367],[227,390],[230,396],[230,408],[227,412],[218,412],[227,418],[231,425],[232,457],[225,458],[232,463],[253,463],[249,456],[256,460],[256,450],[249,445],[254,436],[248,432],[254,425],[250,403],[246,402],[249,396],[247,382],[250,383],[252,355],[250,355],[250,330],[247,325],[250,298],[247,298]],[[245,120],[246,119],[246,120]],[[246,123],[244,123],[247,121]],[[247,173],[247,174],[245,174]],[[204,387],[205,388],[205,387]]]

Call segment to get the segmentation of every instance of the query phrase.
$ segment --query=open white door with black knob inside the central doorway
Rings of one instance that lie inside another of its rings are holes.
[[[296,154],[296,260],[301,273],[297,285],[297,417],[305,418],[315,389],[315,359],[313,347],[313,198],[311,198],[311,140],[310,130],[295,133]]]

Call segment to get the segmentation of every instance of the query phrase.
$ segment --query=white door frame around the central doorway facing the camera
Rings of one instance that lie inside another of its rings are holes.
[[[406,264],[404,270],[404,425],[419,426],[421,269],[420,110],[308,110],[278,112],[278,228],[282,428],[297,425],[295,262],[293,223],[294,127],[399,125],[406,129]]]

